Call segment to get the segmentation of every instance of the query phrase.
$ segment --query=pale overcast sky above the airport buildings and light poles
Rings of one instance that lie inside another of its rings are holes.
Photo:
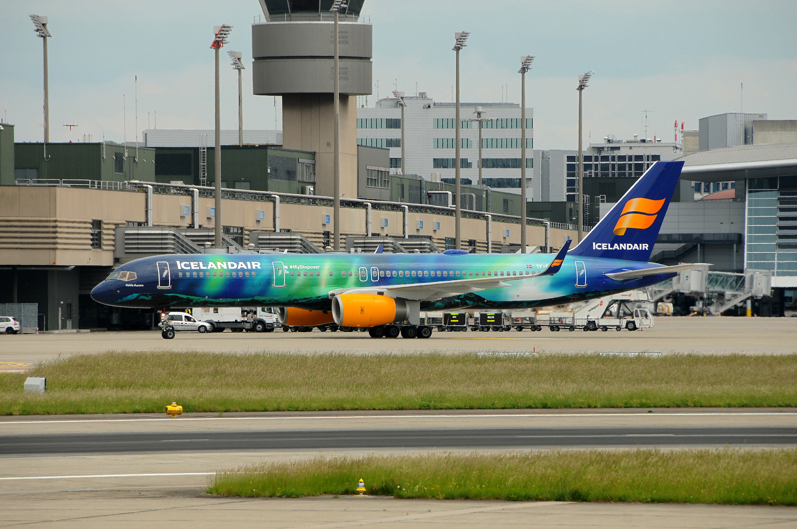
[[[41,39],[29,14],[49,16],[51,141],[94,141],[103,133],[135,139],[138,130],[213,127],[214,25],[234,25],[230,44],[244,54],[244,127],[273,129],[273,97],[251,93],[251,24],[257,0],[0,0],[0,118],[17,141],[41,141]],[[739,112],[797,119],[797,2],[510,2],[366,0],[374,25],[379,96],[395,82],[451,100],[453,33],[471,32],[461,52],[461,100],[520,101],[520,56],[527,74],[534,146],[572,149],[577,141],[579,73],[594,70],[584,92],[584,141],[644,134],[673,138],[673,122]],[[235,128],[237,78],[224,55],[222,128]],[[396,81],[397,80],[397,81]],[[374,89],[375,92],[375,89]],[[127,101],[124,127],[123,94]],[[376,97],[369,96],[373,106]],[[147,113],[149,117],[147,117]],[[279,98],[277,98],[277,116]],[[63,125],[78,125],[71,133]],[[278,125],[281,127],[281,123]]]

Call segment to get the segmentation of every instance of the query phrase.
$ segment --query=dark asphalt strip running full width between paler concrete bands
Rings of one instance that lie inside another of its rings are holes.
[[[0,435],[0,455],[280,449],[534,449],[795,445],[797,427],[428,428]]]

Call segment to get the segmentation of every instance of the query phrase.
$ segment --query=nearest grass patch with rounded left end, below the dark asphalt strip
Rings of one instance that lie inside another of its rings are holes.
[[[638,449],[317,457],[218,472],[224,496],[367,494],[438,500],[797,504],[797,450]]]

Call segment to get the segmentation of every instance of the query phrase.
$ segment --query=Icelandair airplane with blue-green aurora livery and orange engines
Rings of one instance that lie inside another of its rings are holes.
[[[553,259],[461,250],[162,255],[123,264],[92,298],[134,308],[274,306],[285,325],[334,322],[379,336],[392,323],[418,326],[420,311],[543,307],[642,288],[707,265],[648,262],[681,167],[654,163],[579,245],[567,241]]]

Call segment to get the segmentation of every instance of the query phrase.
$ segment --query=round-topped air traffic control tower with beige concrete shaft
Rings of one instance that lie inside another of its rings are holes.
[[[357,197],[357,100],[371,93],[372,26],[357,22],[364,0],[338,18],[340,194]],[[335,138],[333,0],[260,0],[252,25],[253,93],[282,96],[283,147],[316,152],[316,194],[332,196]]]

